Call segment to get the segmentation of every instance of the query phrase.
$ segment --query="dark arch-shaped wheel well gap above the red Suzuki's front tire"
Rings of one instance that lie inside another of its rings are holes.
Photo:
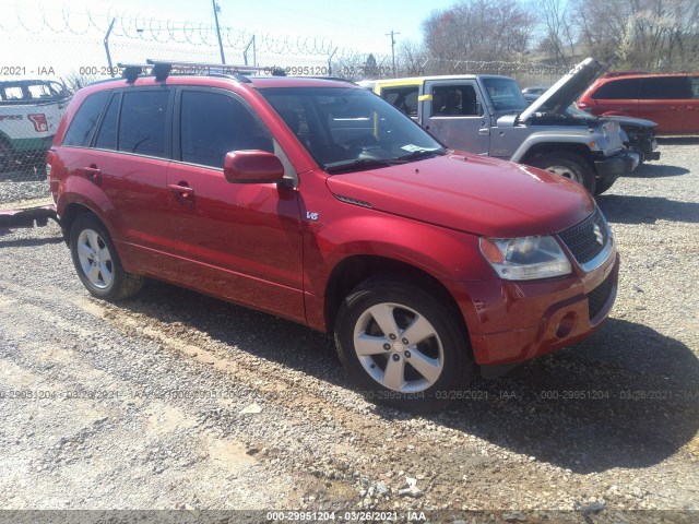
[[[377,275],[405,279],[435,295],[454,314],[467,338],[466,323],[459,305],[441,282],[414,265],[374,255],[350,257],[337,264],[330,275],[325,288],[325,326],[329,332],[334,331],[337,311],[347,295],[364,281]]]

